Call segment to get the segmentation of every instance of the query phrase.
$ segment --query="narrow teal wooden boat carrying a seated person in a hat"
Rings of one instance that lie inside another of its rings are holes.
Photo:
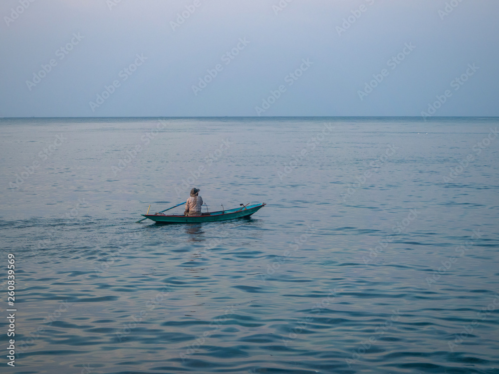
[[[243,205],[243,204],[241,204]],[[156,214],[141,214],[155,222],[160,223],[198,223],[198,222],[215,222],[226,221],[235,218],[249,218],[251,214],[255,213],[258,209],[265,206],[265,203],[258,203],[253,205],[243,205],[240,208],[214,211],[210,213],[202,213],[202,215],[186,217],[181,214],[165,215],[163,213]]]

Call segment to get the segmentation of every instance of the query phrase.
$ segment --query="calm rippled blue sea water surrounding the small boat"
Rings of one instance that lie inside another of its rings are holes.
[[[1,119],[1,372],[499,373],[498,126]]]

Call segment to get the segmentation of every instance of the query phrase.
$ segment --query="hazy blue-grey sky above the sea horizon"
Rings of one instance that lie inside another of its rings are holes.
[[[498,15],[497,0],[2,0],[0,117],[499,116]]]

